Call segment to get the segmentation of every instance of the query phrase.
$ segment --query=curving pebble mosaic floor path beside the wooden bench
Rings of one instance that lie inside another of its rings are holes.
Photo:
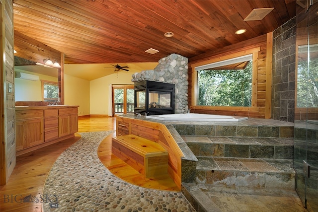
[[[181,192],[129,184],[98,159],[99,143],[113,131],[79,133],[81,139],[54,163],[43,194],[44,212],[195,212]]]

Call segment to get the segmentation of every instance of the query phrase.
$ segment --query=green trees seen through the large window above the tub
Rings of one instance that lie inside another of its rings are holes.
[[[197,105],[251,105],[252,61],[243,70],[198,70]]]

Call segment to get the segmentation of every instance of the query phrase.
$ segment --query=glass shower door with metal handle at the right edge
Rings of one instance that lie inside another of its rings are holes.
[[[294,168],[304,206],[318,211],[318,0],[309,2],[297,13]]]

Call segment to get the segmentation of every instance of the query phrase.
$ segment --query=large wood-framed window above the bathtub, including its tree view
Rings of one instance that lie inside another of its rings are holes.
[[[191,106],[199,110],[258,112],[259,47],[191,64]]]

